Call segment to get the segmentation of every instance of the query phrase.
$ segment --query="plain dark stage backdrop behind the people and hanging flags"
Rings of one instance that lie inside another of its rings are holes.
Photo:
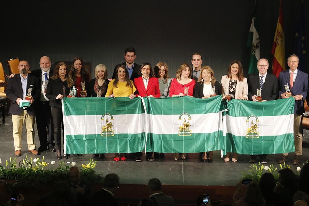
[[[124,62],[125,48],[137,51],[136,61],[167,62],[175,77],[180,63],[191,65],[192,53],[214,69],[218,80],[231,60],[242,62],[248,76],[247,35],[254,0],[237,1],[4,1],[1,2],[0,61],[19,57],[31,69],[47,55],[56,61],[75,56],[108,68],[108,78]],[[309,31],[309,2],[305,1]],[[271,62],[279,0],[258,1],[260,54]],[[292,54],[301,0],[283,0],[286,58]],[[308,44],[307,40],[307,44]],[[307,47],[308,48],[308,47]],[[308,57],[308,54],[307,54]],[[307,58],[307,65],[309,58]],[[271,65],[269,66],[271,70]],[[271,72],[271,71],[270,71]]]

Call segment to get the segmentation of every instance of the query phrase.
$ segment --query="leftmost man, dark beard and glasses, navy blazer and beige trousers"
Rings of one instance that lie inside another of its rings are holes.
[[[13,122],[13,138],[15,155],[21,156],[21,133],[23,123],[26,124],[27,129],[27,144],[28,151],[33,155],[38,155],[34,144],[34,103],[38,101],[40,95],[40,84],[38,78],[28,74],[29,63],[27,61],[20,61],[18,65],[19,74],[9,79],[6,87],[6,96],[11,99],[11,107],[9,113],[12,114]],[[23,109],[19,107],[19,102],[25,100],[26,96],[30,101],[30,106]]]

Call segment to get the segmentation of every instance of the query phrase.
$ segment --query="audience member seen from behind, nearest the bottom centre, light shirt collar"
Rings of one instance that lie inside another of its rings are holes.
[[[175,200],[171,196],[164,195],[162,192],[161,181],[157,178],[152,178],[147,184],[149,198],[154,198],[158,206],[175,206]]]

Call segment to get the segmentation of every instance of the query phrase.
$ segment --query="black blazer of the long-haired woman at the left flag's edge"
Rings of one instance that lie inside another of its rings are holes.
[[[63,93],[63,87],[64,93]],[[46,97],[49,99],[49,105],[55,108],[62,108],[61,99],[56,99],[56,97],[61,94],[64,97],[69,95],[70,88],[66,81],[62,81],[60,78],[49,79],[47,84]]]

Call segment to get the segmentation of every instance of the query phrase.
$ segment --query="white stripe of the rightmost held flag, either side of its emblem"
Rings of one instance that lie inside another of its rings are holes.
[[[258,117],[258,132],[260,136],[278,136],[293,133],[293,117],[294,114],[280,116],[262,116]],[[227,133],[236,136],[246,136],[249,128],[246,123],[247,117],[233,117],[226,115]],[[256,124],[256,123],[254,123]]]

